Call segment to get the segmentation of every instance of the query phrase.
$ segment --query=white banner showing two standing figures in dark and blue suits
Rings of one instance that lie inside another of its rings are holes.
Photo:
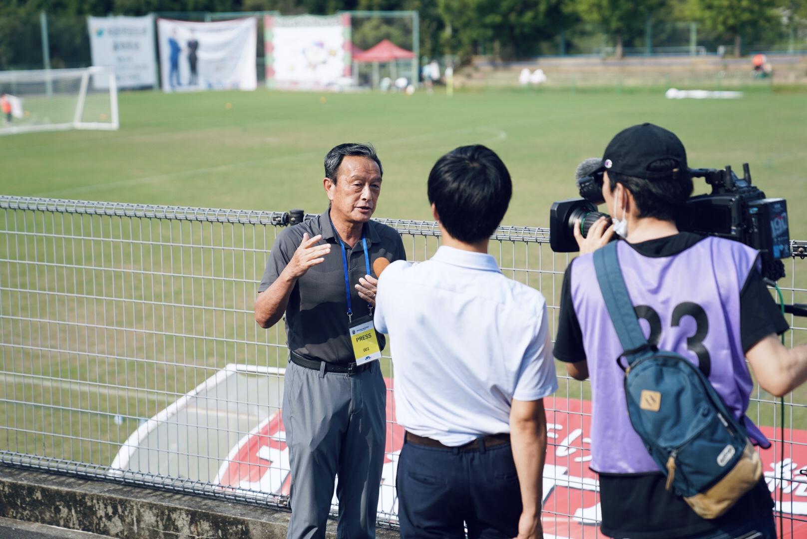
[[[188,23],[157,19],[166,92],[255,90],[257,19]]]

